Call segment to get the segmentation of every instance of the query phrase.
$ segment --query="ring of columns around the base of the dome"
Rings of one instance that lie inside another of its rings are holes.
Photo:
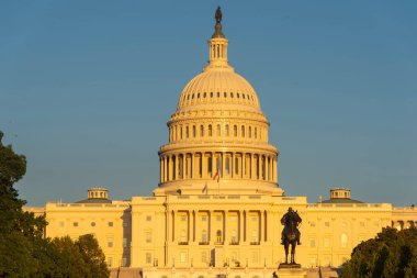
[[[187,153],[160,157],[160,182],[210,179],[217,173],[226,179],[277,182],[277,156],[251,153]]]

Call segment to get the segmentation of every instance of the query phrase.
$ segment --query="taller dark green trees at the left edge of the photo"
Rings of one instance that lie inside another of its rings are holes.
[[[105,258],[91,234],[44,238],[44,216],[23,211],[13,187],[26,173],[26,158],[3,145],[0,131],[0,277],[103,278]]]

